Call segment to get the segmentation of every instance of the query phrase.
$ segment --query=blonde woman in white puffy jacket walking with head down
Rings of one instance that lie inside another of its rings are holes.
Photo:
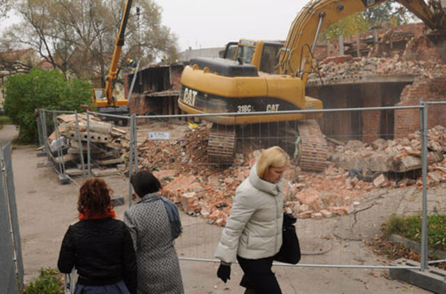
[[[217,277],[225,283],[237,259],[244,272],[240,286],[247,288],[245,294],[282,293],[271,267],[272,257],[282,246],[282,176],[288,162],[289,156],[278,146],[263,150],[249,177],[236,189],[215,252],[221,261]]]

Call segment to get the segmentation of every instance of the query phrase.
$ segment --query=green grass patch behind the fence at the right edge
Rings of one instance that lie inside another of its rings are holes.
[[[429,248],[446,251],[446,215],[433,213],[427,219],[427,242]],[[420,215],[410,217],[392,215],[383,224],[381,230],[385,237],[391,234],[398,234],[410,240],[421,242],[421,224],[422,217]]]

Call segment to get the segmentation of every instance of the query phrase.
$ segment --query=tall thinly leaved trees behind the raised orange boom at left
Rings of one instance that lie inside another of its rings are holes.
[[[10,28],[0,43],[31,47],[54,68],[104,86],[125,0],[17,1],[24,21]],[[162,54],[176,59],[176,42],[176,36],[161,24],[160,6],[152,0],[134,1],[121,61],[130,56],[148,64]]]

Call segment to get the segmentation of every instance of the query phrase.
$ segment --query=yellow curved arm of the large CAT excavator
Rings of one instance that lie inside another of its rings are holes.
[[[280,52],[279,72],[299,76],[307,84],[318,34],[330,24],[387,0],[313,0],[295,17]],[[429,0],[397,0],[431,29],[446,30],[445,10]]]

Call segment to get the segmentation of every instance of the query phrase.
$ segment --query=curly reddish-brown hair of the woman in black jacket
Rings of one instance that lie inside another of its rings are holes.
[[[112,208],[110,194],[112,189],[107,187],[102,178],[86,180],[79,189],[77,210],[80,213],[88,212],[89,216],[98,213],[104,215],[108,208]]]

